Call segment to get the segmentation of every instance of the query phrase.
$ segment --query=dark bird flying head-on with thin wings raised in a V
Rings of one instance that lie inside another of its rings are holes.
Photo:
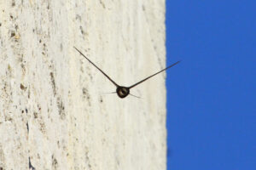
[[[75,47],[73,47],[73,48],[75,48]],[[163,69],[163,70],[161,70],[161,71],[158,71],[158,72],[154,73],[153,75],[144,78],[144,79],[141,80],[140,82],[137,82],[137,83],[131,85],[130,87],[124,87],[124,86],[119,86],[119,85],[118,85],[116,82],[114,82],[110,77],[108,77],[108,75],[107,75],[104,71],[102,71],[97,65],[95,65],[93,62],[91,62],[90,59],[88,59],[82,52],[80,52],[78,48],[75,48],[75,49],[79,52],[79,54],[81,54],[85,59],[87,59],[87,60],[90,62],[90,64],[94,65],[94,66],[96,67],[96,69],[98,69],[99,71],[101,71],[102,74],[103,74],[105,77],[107,77],[108,80],[109,80],[110,82],[112,82],[112,83],[115,85],[115,87],[116,87],[116,92],[115,92],[115,93],[118,94],[119,98],[121,98],[121,99],[125,98],[127,95],[130,94],[130,89],[131,89],[131,88],[136,87],[136,86],[139,85],[140,83],[145,82],[145,81],[148,80],[149,78],[154,77],[155,75],[159,74],[159,73],[162,72],[162,71],[166,71],[167,69],[171,68],[171,67],[174,66],[174,65],[177,65],[177,64],[180,62],[180,61],[177,61],[176,63],[167,66],[165,69]],[[134,95],[133,95],[133,96],[134,96]]]

